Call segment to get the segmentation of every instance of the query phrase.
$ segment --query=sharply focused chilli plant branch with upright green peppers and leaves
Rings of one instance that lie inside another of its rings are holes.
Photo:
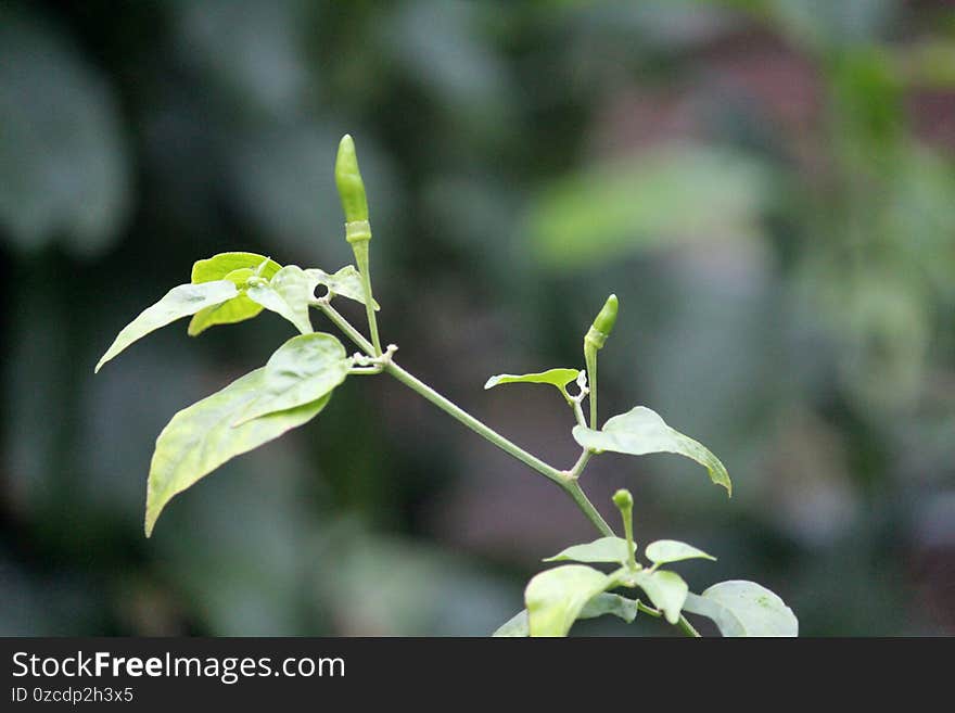
[[[188,316],[192,317],[189,334],[193,336],[216,324],[252,319],[263,309],[278,313],[301,332],[276,349],[264,367],[179,411],[163,429],[150,464],[147,537],[177,494],[231,458],[310,421],[349,377],[386,373],[553,482],[573,499],[600,535],[591,543],[569,547],[544,560],[561,564],[531,580],[524,591],[525,609],[505,623],[496,636],[564,636],[578,619],[613,614],[632,622],[638,613],[663,619],[686,634],[699,636],[687,621],[687,612],[713,620],[724,636],[797,634],[798,623],[792,611],[775,594],[752,582],[721,582],[701,595],[689,593],[686,582],[676,572],[663,568],[687,559],[714,559],[691,545],[673,539],[657,540],[644,548],[642,556],[648,563],[638,562],[631,494],[619,491],[613,496],[623,517],[624,537],[620,537],[581,488],[587,462],[601,453],[634,456],[673,453],[696,460],[705,467],[713,483],[725,487],[727,494],[731,492],[723,463],[700,443],[670,428],[649,408],[637,406],[599,426],[597,356],[616,321],[615,295],[608,297],[584,336],[584,369],[500,374],[484,385],[492,389],[513,383],[549,384],[560,393],[576,420],[571,435],[581,446],[581,456],[569,469],[556,468],[398,366],[396,346],[382,348],[375,316],[379,305],[372,296],[369,270],[368,202],[349,136],[339,145],[335,181],[345,214],[345,239],[355,253],[354,266],[326,272],[282,266],[269,257],[244,252],[220,253],[199,260],[192,266],[191,281],[173,288],[133,319],[97,364],[99,371],[140,338]],[[326,292],[316,297],[319,285],[324,287]],[[365,305],[369,339],[332,306],[338,297]],[[316,332],[309,318],[311,308],[324,314],[359,351],[349,356],[336,336]],[[607,573],[591,564],[609,564],[613,571]],[[616,593],[633,589],[641,590],[646,600]]]

